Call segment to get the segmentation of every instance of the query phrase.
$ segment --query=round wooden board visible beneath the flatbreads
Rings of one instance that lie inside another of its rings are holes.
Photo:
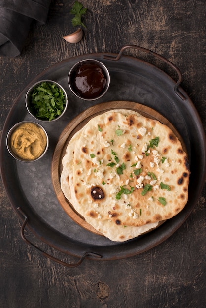
[[[53,158],[52,158],[52,164],[51,164],[51,176],[52,176],[52,183],[54,186],[54,191],[56,193],[57,199],[65,212],[80,226],[83,228],[102,235],[102,233],[98,232],[95,228],[93,228],[90,224],[88,224],[82,216],[80,216],[73,208],[72,204],[65,198],[61,186],[60,186],[60,176],[62,173],[62,158],[66,154],[66,149],[69,144],[69,141],[71,137],[79,130],[81,129],[91,118],[107,112],[109,110],[114,109],[129,109],[138,112],[144,117],[158,120],[162,124],[167,125],[172,129],[173,133],[178,137],[180,140],[182,147],[184,151],[186,152],[186,147],[184,146],[184,142],[179,135],[178,131],[175,129],[175,127],[170,123],[165,117],[163,117],[160,113],[155,111],[154,109],[144,106],[139,103],[129,102],[129,101],[111,101],[111,102],[105,102],[101,104],[97,104],[95,106],[92,106],[82,113],[80,113],[77,117],[75,117],[72,121],[68,123],[68,125],[65,127],[65,129],[62,131],[58,143],[56,145]],[[162,224],[159,223],[159,225]],[[159,226],[158,225],[158,226]],[[150,230],[151,231],[151,230]]]

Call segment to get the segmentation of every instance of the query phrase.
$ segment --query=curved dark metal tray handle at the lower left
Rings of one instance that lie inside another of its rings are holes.
[[[24,229],[27,225],[27,222],[29,220],[28,216],[26,216],[26,214],[22,211],[22,209],[20,207],[17,208],[17,210],[21,213],[21,215],[24,217],[24,221],[23,221],[23,224],[21,226],[21,229],[20,229],[20,234],[21,234],[21,237],[23,239],[24,242],[26,242],[29,246],[32,246],[33,248],[35,248],[41,255],[43,255],[44,257],[47,257],[61,265],[64,265],[66,267],[77,267],[79,266],[85,258],[87,257],[92,257],[92,259],[100,259],[102,258],[102,256],[100,254],[97,254],[97,253],[94,253],[94,252],[85,252],[82,257],[79,259],[79,261],[77,263],[67,263],[67,262],[64,262],[60,259],[57,259],[53,256],[51,256],[50,254],[48,254],[47,252],[43,251],[42,249],[40,249],[39,247],[35,246],[32,242],[30,242],[25,234],[24,234]]]

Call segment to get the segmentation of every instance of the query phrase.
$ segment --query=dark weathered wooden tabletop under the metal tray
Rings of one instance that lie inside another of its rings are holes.
[[[32,25],[21,55],[0,57],[0,132],[17,96],[43,70],[77,55],[118,53],[127,44],[148,48],[180,69],[182,88],[206,124],[205,0],[82,0],[87,28],[80,43],[69,44],[62,36],[73,31],[73,2],[52,0],[46,25]],[[206,307],[205,197],[203,189],[191,215],[160,245],[67,268],[22,241],[21,222],[0,183],[0,307]]]

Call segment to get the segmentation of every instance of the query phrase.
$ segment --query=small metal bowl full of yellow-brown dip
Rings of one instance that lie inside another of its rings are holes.
[[[45,129],[38,123],[22,121],[9,130],[6,137],[9,153],[17,160],[33,162],[41,158],[49,147]]]

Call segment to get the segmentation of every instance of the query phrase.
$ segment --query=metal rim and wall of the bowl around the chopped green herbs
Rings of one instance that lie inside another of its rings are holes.
[[[65,96],[65,102],[64,102],[65,106],[64,106],[64,109],[62,110],[62,113],[59,116],[57,116],[56,118],[54,118],[52,120],[49,120],[49,119],[46,119],[46,118],[37,117],[34,114],[34,108],[32,108],[32,103],[31,103],[32,97],[31,97],[31,95],[32,95],[32,93],[34,91],[34,87],[40,85],[42,82],[47,82],[47,83],[50,83],[52,85],[56,85],[58,88],[62,89],[62,91],[64,92],[64,96]],[[45,80],[40,80],[40,81],[36,82],[32,87],[30,87],[30,89],[28,90],[28,92],[26,94],[25,103],[26,103],[26,107],[27,107],[28,112],[30,113],[30,115],[32,117],[34,117],[34,119],[42,121],[42,122],[53,122],[53,121],[56,121],[56,120],[60,119],[64,115],[64,113],[66,112],[67,106],[68,106],[68,96],[67,96],[67,93],[66,93],[65,89],[60,84],[58,84],[56,81],[45,79]]]

